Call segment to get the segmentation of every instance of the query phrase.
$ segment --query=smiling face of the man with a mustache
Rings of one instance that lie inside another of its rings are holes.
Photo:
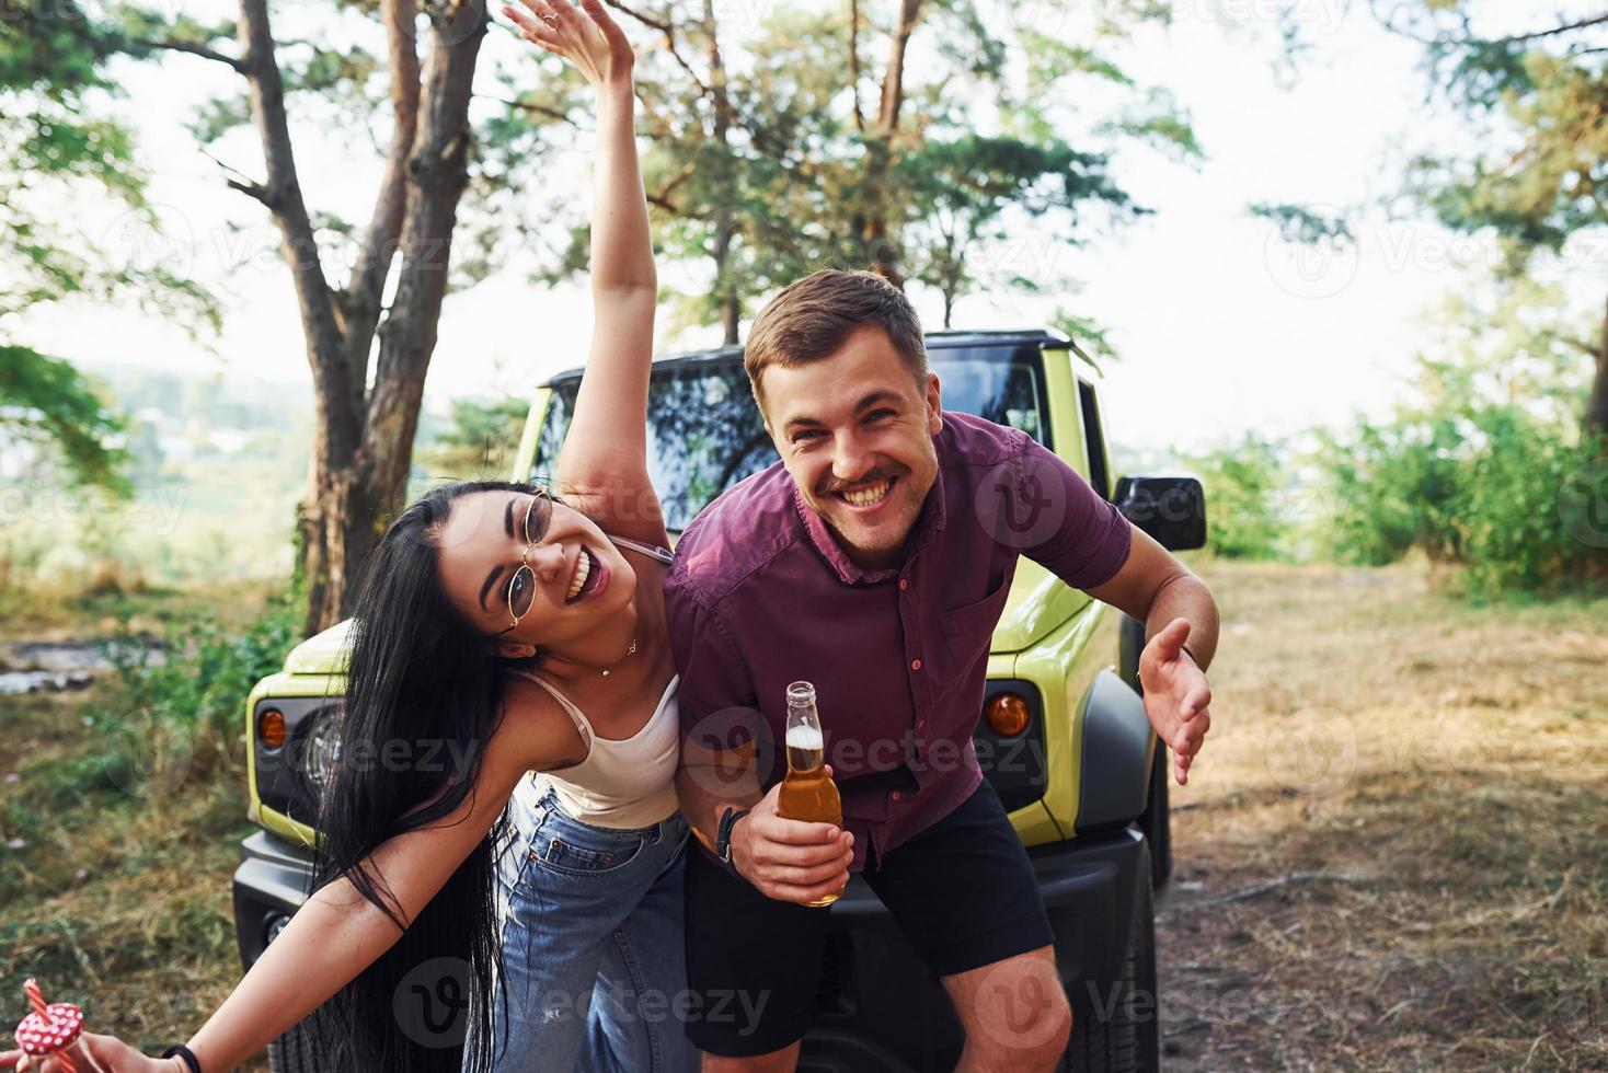
[[[912,376],[880,328],[764,371],[765,427],[804,503],[862,569],[899,562],[937,477],[937,377]]]

